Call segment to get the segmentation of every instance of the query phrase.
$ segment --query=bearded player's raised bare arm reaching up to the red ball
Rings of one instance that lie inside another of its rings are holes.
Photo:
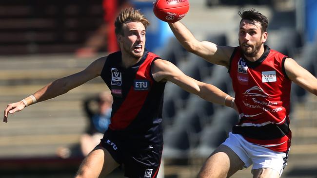
[[[169,23],[169,26],[178,41],[187,51],[195,53],[213,64],[229,67],[230,57],[234,47],[217,46],[217,44],[209,41],[199,41],[179,21]]]

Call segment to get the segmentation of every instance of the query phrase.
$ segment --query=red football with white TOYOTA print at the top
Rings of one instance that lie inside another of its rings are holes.
[[[177,22],[186,16],[189,0],[157,0],[153,12],[157,18],[166,22]]]

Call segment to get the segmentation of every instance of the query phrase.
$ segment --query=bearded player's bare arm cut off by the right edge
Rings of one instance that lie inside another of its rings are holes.
[[[317,95],[317,78],[309,71],[297,64],[292,58],[287,58],[284,63],[287,76],[297,85]]]

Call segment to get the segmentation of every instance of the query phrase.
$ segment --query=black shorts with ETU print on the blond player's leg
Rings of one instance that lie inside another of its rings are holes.
[[[148,145],[136,148],[124,140],[104,135],[99,146],[109,151],[114,160],[124,167],[128,178],[156,178],[162,158],[162,145]],[[141,145],[141,144],[139,144]]]

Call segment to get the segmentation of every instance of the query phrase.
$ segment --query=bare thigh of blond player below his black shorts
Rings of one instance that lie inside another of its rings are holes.
[[[76,178],[98,178],[106,176],[119,166],[103,147],[96,147],[79,166]]]

